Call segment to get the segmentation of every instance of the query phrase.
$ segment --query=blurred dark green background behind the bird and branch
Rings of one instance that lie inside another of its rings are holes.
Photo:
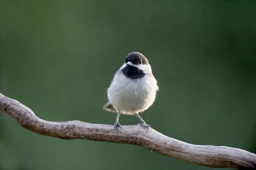
[[[1,0],[0,93],[45,120],[113,125],[106,89],[139,51],[160,88],[145,122],[256,153],[255,9],[255,0]],[[116,168],[209,169],[136,145],[40,136],[0,114],[0,170]]]

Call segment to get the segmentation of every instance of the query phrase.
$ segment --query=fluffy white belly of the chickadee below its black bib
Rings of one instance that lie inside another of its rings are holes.
[[[153,104],[157,89],[154,76],[128,79],[119,72],[108,88],[108,99],[121,113],[134,114],[145,111]]]

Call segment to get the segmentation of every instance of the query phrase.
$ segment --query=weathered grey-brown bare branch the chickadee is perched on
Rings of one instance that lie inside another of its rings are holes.
[[[183,161],[206,167],[256,169],[256,154],[245,150],[211,145],[195,145],[169,138],[156,130],[145,132],[139,125],[122,126],[119,134],[113,125],[91,124],[80,121],[49,122],[38,118],[17,100],[0,94],[0,111],[8,113],[20,126],[32,132],[61,139],[137,144]]]

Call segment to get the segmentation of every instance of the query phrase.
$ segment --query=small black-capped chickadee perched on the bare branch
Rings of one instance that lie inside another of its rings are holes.
[[[107,111],[117,112],[114,130],[121,127],[119,115],[135,115],[140,119],[140,125],[147,128],[145,121],[138,113],[147,110],[156,98],[157,80],[154,78],[148,59],[139,52],[132,52],[125,58],[125,63],[116,71],[108,88],[109,102],[103,107]]]

